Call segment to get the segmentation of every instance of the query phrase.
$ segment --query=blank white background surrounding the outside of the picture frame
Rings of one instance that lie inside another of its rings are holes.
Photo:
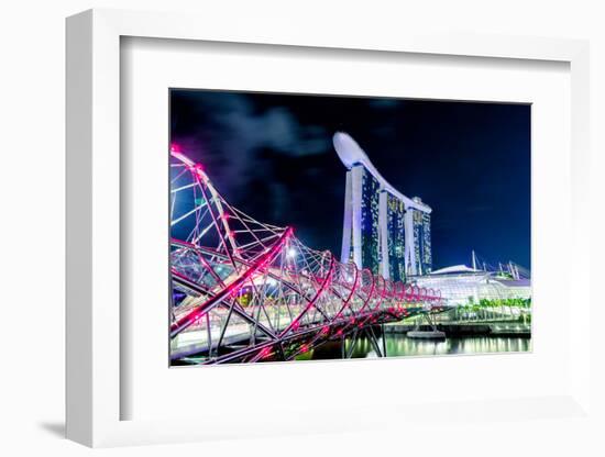
[[[348,21],[360,27],[462,30],[484,33],[590,38],[592,46],[592,142],[594,151],[593,233],[604,233],[603,152],[605,151],[605,13],[601,1],[457,0],[457,1],[168,1],[168,0],[21,0],[4,2],[0,13],[0,165],[2,310],[0,347],[0,449],[2,455],[80,455],[90,450],[63,439],[64,421],[64,19],[85,9],[128,8],[185,10],[204,14],[244,14],[251,21],[272,15],[309,24]],[[218,4],[220,3],[220,4]],[[595,237],[596,237],[595,236]],[[593,274],[603,258],[595,244]],[[598,267],[602,272],[601,267]],[[603,275],[601,274],[601,277]],[[596,283],[596,281],[595,281]],[[597,310],[593,322],[605,322]],[[594,326],[597,330],[597,326]],[[603,339],[593,350],[605,360]],[[595,357],[596,360],[596,357]],[[604,363],[605,364],[605,363]],[[594,364],[595,384],[605,386],[603,367]],[[595,386],[596,387],[596,386]],[[593,402],[605,411],[601,389]],[[502,439],[490,455],[603,455],[597,430],[580,430],[553,420],[527,430],[503,423]],[[601,431],[605,425],[601,424]],[[465,455],[485,454],[473,446],[480,432],[421,439],[355,436],[240,441],[103,450],[109,455],[377,455],[413,449]],[[563,452],[563,454],[559,454]],[[553,454],[554,453],[554,454]]]

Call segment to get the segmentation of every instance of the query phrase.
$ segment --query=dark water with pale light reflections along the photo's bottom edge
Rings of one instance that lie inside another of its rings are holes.
[[[351,341],[346,342],[348,347]],[[405,334],[386,335],[386,354],[389,357],[399,356],[433,356],[446,354],[486,354],[517,353],[531,350],[531,338],[508,336],[454,336],[447,339],[413,339]],[[382,337],[378,338],[382,348]],[[341,344],[329,342],[309,353],[297,357],[299,360],[326,360],[342,357]],[[353,350],[352,358],[376,357],[369,338],[360,338]]]

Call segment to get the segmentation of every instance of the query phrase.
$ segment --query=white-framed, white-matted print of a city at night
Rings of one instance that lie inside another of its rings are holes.
[[[586,78],[581,41],[69,18],[68,437],[583,433]]]

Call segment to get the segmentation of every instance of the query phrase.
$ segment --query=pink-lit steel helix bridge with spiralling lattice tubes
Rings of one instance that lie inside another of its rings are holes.
[[[439,291],[343,265],[290,227],[231,207],[204,168],[174,149],[170,169],[173,360],[290,360],[326,341],[443,309]]]

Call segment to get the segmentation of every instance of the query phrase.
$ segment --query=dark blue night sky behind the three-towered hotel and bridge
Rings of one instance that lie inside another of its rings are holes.
[[[432,208],[435,269],[470,265],[471,249],[530,268],[527,104],[170,91],[172,141],[231,204],[340,257],[346,170],[337,131]]]

